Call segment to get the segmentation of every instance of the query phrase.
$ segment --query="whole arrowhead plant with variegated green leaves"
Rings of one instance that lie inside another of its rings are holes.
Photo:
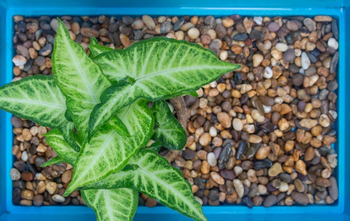
[[[80,190],[98,221],[132,220],[138,192],[191,219],[207,220],[181,171],[158,155],[161,147],[183,150],[187,142],[166,100],[198,97],[199,88],[240,65],[166,37],[116,50],[92,37],[87,55],[58,23],[53,76],[2,86],[0,108],[51,128],[44,136],[58,156],[42,166],[66,162],[74,168],[63,196]]]

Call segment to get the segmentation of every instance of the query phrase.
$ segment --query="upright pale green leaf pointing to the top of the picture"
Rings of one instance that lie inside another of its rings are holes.
[[[66,106],[80,140],[84,141],[92,108],[100,103],[100,95],[111,83],[83,47],[71,40],[61,20],[57,20],[52,73],[56,85],[66,97]]]

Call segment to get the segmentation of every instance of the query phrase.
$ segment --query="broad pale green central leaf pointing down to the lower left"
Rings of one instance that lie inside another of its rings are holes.
[[[100,129],[89,143],[83,143],[64,196],[80,186],[104,179],[122,169],[130,157],[151,138],[154,119],[146,100],[137,100],[121,109],[117,117],[130,131],[130,137],[121,136],[115,130]]]

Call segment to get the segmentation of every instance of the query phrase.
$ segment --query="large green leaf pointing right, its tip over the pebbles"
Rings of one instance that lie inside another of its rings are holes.
[[[194,92],[240,67],[219,60],[213,51],[198,44],[167,37],[135,42],[93,60],[109,79],[128,80],[130,84],[107,88],[102,94],[102,103],[94,107],[90,116],[89,139],[121,108],[138,98],[154,101]]]

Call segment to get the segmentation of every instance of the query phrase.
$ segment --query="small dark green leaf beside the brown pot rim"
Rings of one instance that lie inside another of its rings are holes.
[[[158,111],[153,113],[157,128],[153,130],[152,140],[160,141],[163,147],[172,150],[182,150],[187,143],[186,131],[177,121],[164,100],[154,101],[153,107]]]

